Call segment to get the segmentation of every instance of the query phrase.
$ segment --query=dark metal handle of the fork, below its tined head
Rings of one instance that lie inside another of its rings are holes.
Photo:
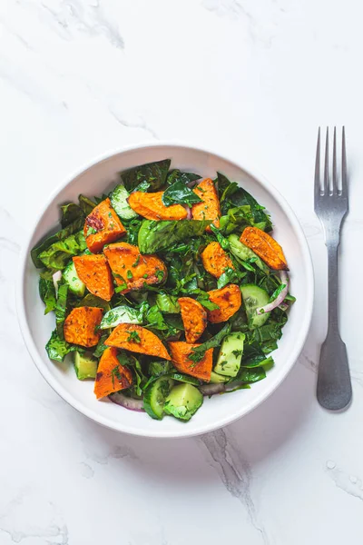
[[[318,401],[330,411],[344,409],[352,397],[347,349],[338,329],[338,245],[338,233],[327,236],[329,326],[321,346],[317,384]]]

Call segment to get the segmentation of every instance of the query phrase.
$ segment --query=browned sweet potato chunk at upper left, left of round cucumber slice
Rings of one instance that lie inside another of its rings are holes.
[[[124,233],[126,229],[108,198],[97,204],[85,218],[83,234],[87,247],[92,253],[101,252],[104,244],[114,243]]]

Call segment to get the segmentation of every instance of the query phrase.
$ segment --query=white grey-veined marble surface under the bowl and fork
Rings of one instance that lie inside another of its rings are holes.
[[[362,542],[362,15],[356,0],[0,3],[1,545]],[[319,124],[348,136],[340,310],[354,400],[340,414],[315,399],[327,301],[312,208]],[[99,154],[158,139],[265,173],[298,214],[316,272],[309,339],[287,380],[191,440],[85,419],[36,371],[15,315],[19,249],[47,194]]]

